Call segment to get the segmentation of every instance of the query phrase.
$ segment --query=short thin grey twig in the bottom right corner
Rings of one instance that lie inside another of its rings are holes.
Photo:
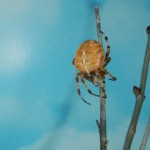
[[[142,143],[141,143],[141,146],[140,146],[139,150],[145,150],[147,140],[148,140],[148,137],[149,137],[149,133],[150,133],[150,118],[148,120],[147,127],[146,127],[144,137],[143,137],[143,140],[142,140]]]

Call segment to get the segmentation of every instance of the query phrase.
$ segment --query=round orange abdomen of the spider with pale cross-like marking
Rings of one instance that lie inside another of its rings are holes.
[[[104,50],[95,40],[85,41],[76,52],[74,65],[83,73],[98,70],[104,65]]]

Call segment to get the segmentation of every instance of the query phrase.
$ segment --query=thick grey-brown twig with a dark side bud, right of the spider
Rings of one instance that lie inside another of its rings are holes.
[[[132,140],[136,133],[136,126],[138,123],[139,115],[145,99],[145,87],[146,87],[148,66],[150,60],[150,26],[147,27],[147,34],[148,34],[148,42],[147,42],[145,58],[143,63],[140,87],[139,88],[136,86],[133,87],[133,92],[136,97],[136,103],[134,107],[134,112],[132,114],[131,122],[126,134],[123,150],[130,150],[131,148]]]

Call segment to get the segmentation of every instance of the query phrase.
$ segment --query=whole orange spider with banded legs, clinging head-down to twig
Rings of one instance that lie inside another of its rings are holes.
[[[76,74],[77,93],[80,98],[89,105],[90,103],[88,103],[81,95],[79,78],[85,86],[86,90],[94,96],[99,97],[100,95],[94,94],[89,89],[85,82],[85,79],[95,86],[100,85],[102,91],[101,94],[104,98],[106,98],[104,86],[105,80],[103,80],[104,76],[109,75],[110,80],[116,80],[116,77],[111,75],[105,68],[111,60],[111,58],[109,57],[110,45],[108,42],[108,37],[102,31],[100,32],[104,36],[104,39],[106,41],[106,53],[104,53],[102,46],[97,41],[87,40],[80,45],[79,49],[76,52],[75,58],[72,61],[73,65],[75,65],[76,69],[78,70]]]

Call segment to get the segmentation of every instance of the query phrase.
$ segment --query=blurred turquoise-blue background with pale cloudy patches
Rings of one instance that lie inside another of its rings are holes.
[[[83,86],[92,105],[78,97],[72,65],[79,45],[97,40],[96,4],[111,46],[107,69],[117,77],[106,78],[108,150],[122,149],[135,104],[132,87],[140,83],[149,0],[0,0],[0,150],[99,150],[99,98]],[[148,75],[132,150],[148,122],[149,90]]]

